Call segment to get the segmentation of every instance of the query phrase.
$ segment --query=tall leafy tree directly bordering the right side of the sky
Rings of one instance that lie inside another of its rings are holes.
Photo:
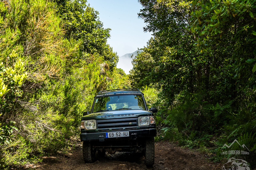
[[[196,70],[192,58],[196,53],[191,50],[192,42],[186,29],[190,2],[142,0],[140,3],[144,9],[138,15],[147,23],[144,31],[152,31],[154,39],[133,60],[131,79],[162,89],[162,94],[170,96],[170,100],[182,90],[193,92]],[[147,59],[142,62],[144,57]]]

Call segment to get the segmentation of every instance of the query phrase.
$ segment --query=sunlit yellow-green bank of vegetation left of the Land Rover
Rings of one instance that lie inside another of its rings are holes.
[[[0,169],[8,169],[71,147],[95,93],[118,88],[118,56],[86,1],[2,0],[0,14]]]

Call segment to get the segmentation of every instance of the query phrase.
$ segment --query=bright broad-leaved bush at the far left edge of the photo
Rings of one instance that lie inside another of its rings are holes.
[[[22,96],[23,91],[21,89],[21,85],[27,77],[24,62],[22,62],[21,59],[18,59],[18,55],[15,50],[12,50],[8,58],[10,59],[9,63],[0,63],[0,116],[3,117],[3,119],[0,120],[1,144],[9,144],[11,142],[13,129],[18,130],[14,127],[15,122],[6,121],[5,117],[7,117],[6,115],[15,108],[15,104],[13,104],[13,102]],[[8,86],[6,86],[4,82],[8,83]]]

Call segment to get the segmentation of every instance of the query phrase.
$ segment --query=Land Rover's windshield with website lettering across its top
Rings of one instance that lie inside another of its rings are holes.
[[[142,95],[119,95],[96,98],[93,113],[132,109],[146,110]]]

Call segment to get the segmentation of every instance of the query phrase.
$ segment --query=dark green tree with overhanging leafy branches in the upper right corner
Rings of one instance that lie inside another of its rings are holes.
[[[222,90],[220,93],[224,96],[229,92],[236,98],[244,93],[245,87],[254,88],[255,2],[202,1],[193,7],[190,30],[195,37],[195,49],[214,67],[211,70],[213,91]],[[225,84],[229,85],[224,84],[224,75],[218,67],[228,75]],[[223,86],[217,87],[217,82],[223,82]],[[227,100],[224,96],[219,100]]]

